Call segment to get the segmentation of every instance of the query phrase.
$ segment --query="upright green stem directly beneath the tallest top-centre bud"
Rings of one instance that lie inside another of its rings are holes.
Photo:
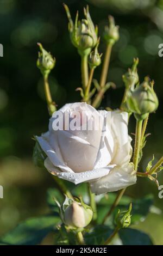
[[[89,81],[89,71],[88,71],[88,65],[87,65],[87,54],[83,54],[81,56],[81,71],[82,71],[82,84],[83,88],[85,89],[87,86],[87,83]]]

